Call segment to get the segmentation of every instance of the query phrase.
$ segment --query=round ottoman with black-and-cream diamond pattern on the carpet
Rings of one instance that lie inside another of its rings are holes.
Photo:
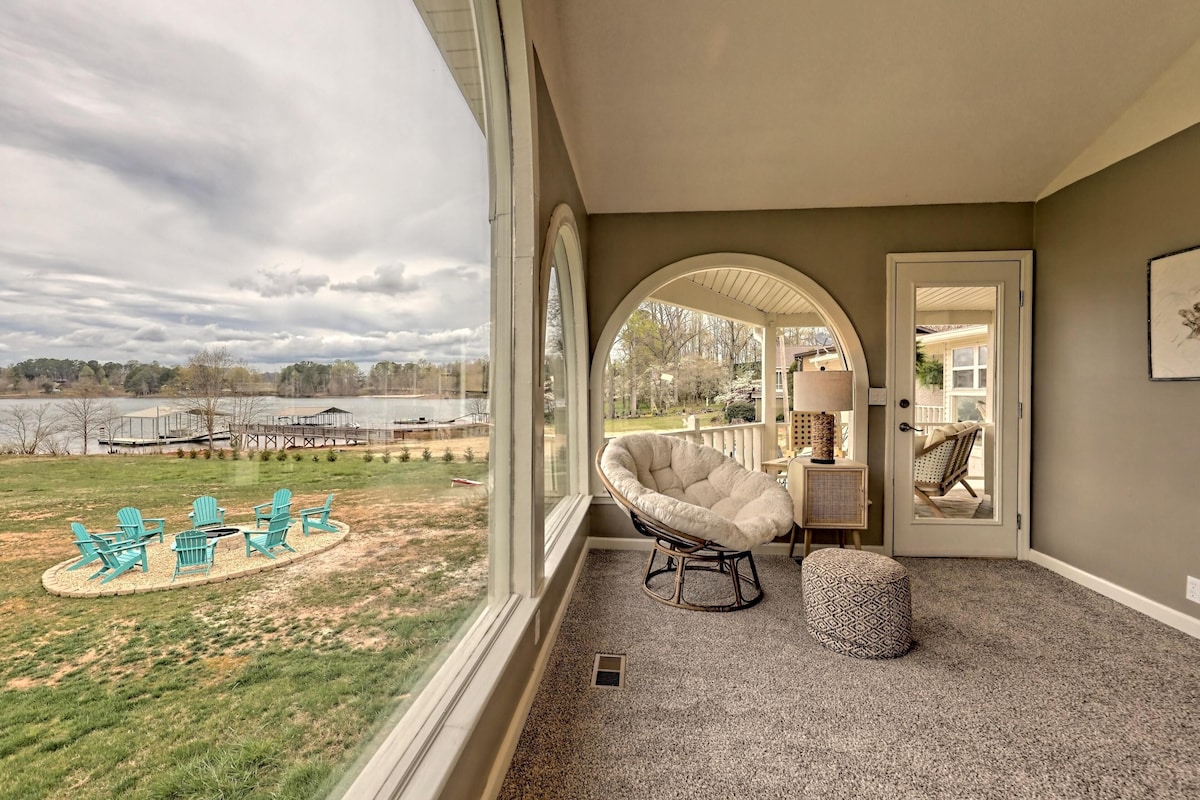
[[[894,658],[912,646],[908,571],[878,553],[824,548],[800,566],[804,622],[824,646],[856,658]]]

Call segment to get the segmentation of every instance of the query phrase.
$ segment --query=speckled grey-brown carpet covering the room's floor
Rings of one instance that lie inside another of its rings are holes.
[[[588,555],[502,798],[1200,798],[1200,642],[1042,567],[901,559],[917,644],[859,661],[784,557],[730,614],[649,600],[643,559]]]

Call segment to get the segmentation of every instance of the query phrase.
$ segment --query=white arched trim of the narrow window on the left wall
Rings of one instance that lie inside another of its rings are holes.
[[[556,258],[556,252],[560,253]],[[570,415],[570,494],[587,494],[590,459],[588,458],[588,306],[584,295],[583,251],[580,229],[571,206],[560,203],[550,216],[550,228],[541,253],[541,351],[546,351],[546,301],[550,296],[550,269],[558,265],[558,289],[563,300],[563,335],[566,345],[566,367]],[[542,359],[545,360],[545,359]],[[541,362],[539,362],[540,365]],[[545,380],[545,375],[542,375]],[[547,529],[547,541],[552,531]]]

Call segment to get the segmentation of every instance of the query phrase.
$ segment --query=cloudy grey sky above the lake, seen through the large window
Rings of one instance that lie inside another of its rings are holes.
[[[408,0],[0,4],[0,366],[485,356],[487,253]]]

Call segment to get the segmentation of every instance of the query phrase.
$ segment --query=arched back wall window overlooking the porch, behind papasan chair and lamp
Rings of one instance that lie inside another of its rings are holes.
[[[720,253],[664,267],[626,295],[598,348],[598,440],[658,431],[758,469],[794,455],[792,374],[853,369],[852,407],[820,410],[836,413],[842,455],[866,452],[866,426],[856,422],[866,407],[858,337],[828,293],[779,261]]]

